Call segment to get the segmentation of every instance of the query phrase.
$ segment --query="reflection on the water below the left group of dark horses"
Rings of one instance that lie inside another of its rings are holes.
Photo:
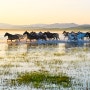
[[[20,42],[7,42],[6,55],[19,55],[21,53],[32,54],[40,53],[40,52],[52,52],[58,51],[59,44],[47,44],[47,45],[39,45],[39,44],[31,44],[31,43],[20,43]]]

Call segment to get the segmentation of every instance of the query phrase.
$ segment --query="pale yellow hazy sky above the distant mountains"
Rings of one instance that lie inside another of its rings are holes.
[[[90,0],[0,0],[0,23],[90,24]]]

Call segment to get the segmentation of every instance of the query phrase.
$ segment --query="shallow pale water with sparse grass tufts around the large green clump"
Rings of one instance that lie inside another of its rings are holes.
[[[13,33],[16,33],[15,31]],[[19,31],[18,33],[23,33]],[[0,35],[0,90],[37,90],[32,86],[10,86],[7,80],[18,73],[45,70],[51,74],[65,73],[72,77],[72,87],[46,86],[46,90],[90,89],[90,43],[59,43],[37,45],[8,42]],[[63,36],[60,34],[61,39]],[[40,90],[40,89],[39,89]],[[42,88],[41,88],[42,90]]]

